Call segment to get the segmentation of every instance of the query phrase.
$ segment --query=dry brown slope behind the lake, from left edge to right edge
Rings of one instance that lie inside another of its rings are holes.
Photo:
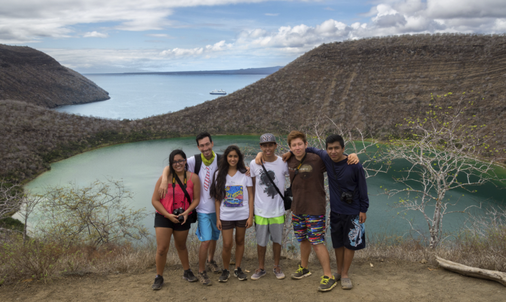
[[[0,67],[2,72],[5,69]],[[495,131],[493,147],[503,149],[505,77],[504,35],[414,35],[325,44],[228,96],[141,120],[80,117],[0,101],[0,176],[21,181],[44,171],[52,161],[104,144],[195,135],[203,130],[282,133],[287,121],[300,126],[321,112],[336,123],[367,127],[373,135],[384,137],[395,133],[395,124],[403,118],[424,116],[431,93],[447,92],[475,91],[465,95],[469,100],[479,98],[466,118],[473,125],[487,125],[479,135]],[[0,83],[3,78],[0,73]],[[0,99],[1,93],[0,89]],[[49,106],[29,91],[17,99]],[[445,105],[458,99],[448,98]]]

